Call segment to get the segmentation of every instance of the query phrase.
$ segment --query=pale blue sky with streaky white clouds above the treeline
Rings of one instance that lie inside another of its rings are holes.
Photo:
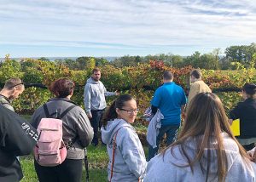
[[[255,42],[254,0],[0,0],[0,57],[185,56]]]

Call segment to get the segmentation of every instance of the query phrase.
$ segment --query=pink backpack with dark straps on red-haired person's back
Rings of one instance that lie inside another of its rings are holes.
[[[61,164],[66,159],[67,147],[62,139],[61,118],[75,106],[68,107],[60,117],[49,118],[47,105],[44,104],[44,112],[47,118],[42,118],[38,125],[38,144],[34,148],[35,159],[39,165],[53,167]]]

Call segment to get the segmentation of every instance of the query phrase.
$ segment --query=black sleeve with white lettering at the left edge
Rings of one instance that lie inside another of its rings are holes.
[[[30,123],[20,117],[14,111],[1,107],[0,122],[2,127],[0,146],[3,151],[13,153],[15,156],[24,156],[32,152],[33,147],[38,141],[38,132]]]

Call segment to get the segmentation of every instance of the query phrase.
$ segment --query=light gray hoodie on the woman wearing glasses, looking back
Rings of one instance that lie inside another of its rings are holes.
[[[107,144],[108,150],[108,180],[110,179],[113,137],[116,137],[117,148],[114,151],[113,178],[114,181],[137,182],[143,179],[147,162],[143,151],[143,145],[131,124],[123,119],[114,119],[108,122],[106,128],[102,127],[102,141]]]

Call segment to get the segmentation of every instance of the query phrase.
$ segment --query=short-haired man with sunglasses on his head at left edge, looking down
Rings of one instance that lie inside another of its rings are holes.
[[[10,78],[5,82],[3,89],[0,91],[0,104],[11,111],[15,111],[14,107],[11,105],[11,102],[12,100],[17,99],[24,90],[24,83],[20,80],[20,78]]]

